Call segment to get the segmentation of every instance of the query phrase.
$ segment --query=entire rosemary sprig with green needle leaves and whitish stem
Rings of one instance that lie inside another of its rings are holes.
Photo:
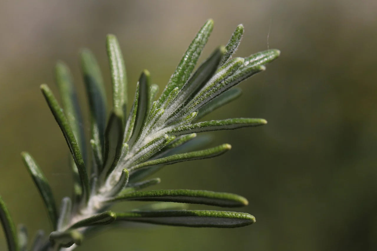
[[[73,196],[64,197],[60,210],[57,210],[43,172],[32,156],[23,152],[23,161],[44,200],[54,231],[48,239],[44,237],[42,230],[38,231],[28,247],[25,227],[19,227],[17,233],[8,210],[0,199],[0,218],[10,251],[72,250],[92,230],[124,222],[218,228],[242,227],[255,222],[254,216],[247,213],[184,210],[186,203],[220,207],[241,207],[248,204],[247,199],[236,194],[185,189],[142,191],[143,188],[160,182],[159,178],[145,178],[164,165],[212,158],[231,148],[229,144],[222,144],[205,150],[185,152],[192,143],[198,141],[196,133],[267,123],[260,118],[197,121],[237,98],[241,90],[232,87],[265,70],[264,65],[280,54],[278,50],[270,49],[245,58],[231,58],[244,32],[244,27],[240,24],[227,45],[215,49],[192,73],[212,28],[212,20],[202,26],[159,98],[155,98],[158,86],[150,84],[149,72],[144,70],[141,73],[128,116],[126,69],[116,37],[107,36],[113,89],[110,114],[107,114],[106,93],[97,61],[88,49],[81,51],[81,65],[90,107],[89,150],[86,149],[83,121],[72,77],[64,63],[57,63],[56,81],[63,109],[47,85],[42,84],[41,91],[72,154],[70,168],[74,178]],[[87,152],[91,152],[91,158],[87,156]],[[157,203],[127,212],[109,211],[111,205],[125,200]]]

